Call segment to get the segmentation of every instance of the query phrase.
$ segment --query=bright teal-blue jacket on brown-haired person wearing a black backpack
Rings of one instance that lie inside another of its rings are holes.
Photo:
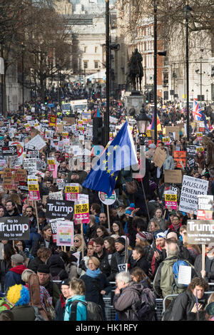
[[[69,321],[69,316],[71,314],[71,305],[72,305],[72,301],[74,300],[81,300],[83,302],[86,302],[86,297],[81,296],[81,295],[76,295],[74,297],[69,298],[68,301],[66,301],[64,321]],[[69,304],[71,305],[69,306]],[[87,319],[86,306],[81,304],[81,302],[78,302],[77,308],[76,308],[76,321],[86,321],[86,319]]]

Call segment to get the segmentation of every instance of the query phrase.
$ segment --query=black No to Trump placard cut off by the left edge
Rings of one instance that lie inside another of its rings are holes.
[[[0,239],[30,239],[29,217],[1,217]]]

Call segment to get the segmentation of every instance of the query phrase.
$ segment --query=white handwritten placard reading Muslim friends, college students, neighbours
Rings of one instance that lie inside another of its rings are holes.
[[[193,210],[194,214],[197,214],[198,195],[206,195],[208,193],[208,186],[208,180],[184,175],[180,192],[179,211],[189,213]]]

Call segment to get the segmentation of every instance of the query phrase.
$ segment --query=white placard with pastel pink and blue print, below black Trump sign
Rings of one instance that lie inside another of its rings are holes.
[[[58,222],[56,245],[61,247],[73,247],[73,222]]]

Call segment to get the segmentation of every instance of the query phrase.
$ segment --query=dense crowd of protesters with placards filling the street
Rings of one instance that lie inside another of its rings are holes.
[[[1,321],[105,321],[106,299],[117,321],[214,321],[214,109],[195,106],[187,141],[185,108],[159,105],[155,144],[153,106],[140,134],[111,100],[106,148],[104,99],[1,116]]]

